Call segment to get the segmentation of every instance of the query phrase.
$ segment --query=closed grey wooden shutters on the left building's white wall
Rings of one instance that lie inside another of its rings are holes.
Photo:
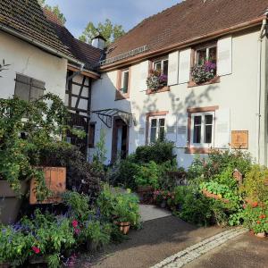
[[[37,100],[44,95],[45,82],[28,76],[16,75],[15,96],[27,102]]]

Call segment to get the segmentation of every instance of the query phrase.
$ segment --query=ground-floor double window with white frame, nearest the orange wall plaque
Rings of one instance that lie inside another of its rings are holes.
[[[214,113],[193,113],[192,122],[191,144],[211,145],[214,142]]]

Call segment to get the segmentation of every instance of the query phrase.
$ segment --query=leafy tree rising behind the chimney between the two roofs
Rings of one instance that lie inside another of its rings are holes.
[[[98,34],[102,35],[107,40],[106,44],[109,45],[117,38],[124,35],[125,31],[121,25],[113,25],[112,21],[109,19],[106,19],[105,23],[99,22],[97,26],[90,21],[88,22],[86,29],[83,31],[83,34],[80,36],[80,41],[90,44],[92,39]]]

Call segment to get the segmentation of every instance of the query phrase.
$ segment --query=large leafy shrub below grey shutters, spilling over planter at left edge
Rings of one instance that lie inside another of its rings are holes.
[[[18,192],[20,180],[35,177],[38,199],[47,197],[43,172],[33,163],[38,163],[41,148],[64,137],[69,129],[66,116],[63,101],[53,94],[30,103],[16,97],[0,99],[0,179],[8,180]],[[26,138],[21,138],[20,133],[25,133]]]

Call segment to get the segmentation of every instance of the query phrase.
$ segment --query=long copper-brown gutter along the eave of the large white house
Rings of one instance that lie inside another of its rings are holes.
[[[206,34],[204,36],[197,37],[197,38],[192,38],[192,39],[189,39],[187,41],[183,41],[183,42],[174,44],[172,46],[166,46],[164,48],[161,48],[161,49],[158,49],[158,50],[155,50],[152,52],[148,52],[145,54],[139,54],[138,56],[132,57],[129,60],[124,60],[124,61],[113,63],[113,64],[107,64],[106,66],[103,65],[100,68],[100,71],[111,71],[113,69],[121,67],[121,65],[123,66],[126,64],[130,64],[130,63],[139,63],[142,60],[145,60],[147,58],[153,57],[153,56],[158,55],[158,54],[171,53],[172,51],[175,51],[177,49],[185,48],[187,46],[192,46],[192,45],[195,45],[197,43],[200,43],[200,41],[205,41],[205,40],[208,40],[211,38],[218,38],[218,37],[221,37],[223,35],[230,34],[231,32],[239,31],[242,29],[248,29],[248,28],[259,25],[265,18],[266,18],[266,16],[258,17],[254,20],[243,22],[243,23],[240,23],[238,25],[231,26],[229,28],[220,29],[220,30],[214,31],[213,33],[209,33],[209,34]]]

